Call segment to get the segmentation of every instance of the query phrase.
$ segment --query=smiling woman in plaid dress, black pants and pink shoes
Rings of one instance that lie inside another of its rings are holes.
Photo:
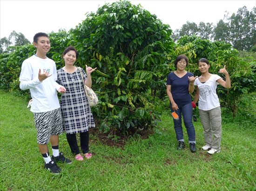
[[[92,86],[91,73],[96,70],[86,65],[86,72],[74,66],[78,52],[73,46],[68,46],[63,52],[65,66],[57,71],[57,82],[64,86],[67,91],[61,95],[61,114],[63,119],[63,131],[66,132],[67,142],[76,160],[83,160],[92,157],[89,152],[89,128],[95,127],[91,108],[88,104],[83,83],[88,87]],[[81,76],[83,75],[83,78]],[[83,82],[83,79],[85,81]],[[80,134],[80,153],[76,134]]]

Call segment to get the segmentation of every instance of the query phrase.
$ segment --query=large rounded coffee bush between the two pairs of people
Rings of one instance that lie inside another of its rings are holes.
[[[105,131],[152,127],[154,96],[165,96],[167,54],[173,50],[168,25],[128,1],[105,4],[71,31],[81,54],[78,64],[97,67],[94,109]],[[160,91],[159,91],[160,90]]]

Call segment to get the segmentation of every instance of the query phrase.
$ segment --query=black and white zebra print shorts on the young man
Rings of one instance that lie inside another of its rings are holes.
[[[34,122],[37,130],[37,143],[39,144],[47,144],[50,135],[62,134],[61,108],[34,113]]]

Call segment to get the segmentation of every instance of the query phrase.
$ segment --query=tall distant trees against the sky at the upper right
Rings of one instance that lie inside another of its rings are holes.
[[[237,13],[217,22],[216,26],[212,23],[200,22],[199,25],[187,21],[181,29],[176,29],[172,34],[175,42],[185,36],[195,35],[202,39],[223,40],[230,43],[239,51],[249,51],[256,45],[256,7],[249,12],[246,6],[239,8]]]

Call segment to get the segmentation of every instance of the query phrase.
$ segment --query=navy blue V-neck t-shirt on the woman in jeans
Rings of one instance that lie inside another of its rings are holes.
[[[191,103],[188,76],[191,77],[194,76],[194,74],[187,72],[183,77],[178,77],[174,72],[171,72],[167,76],[167,85],[171,85],[172,97],[177,105],[186,105]]]

